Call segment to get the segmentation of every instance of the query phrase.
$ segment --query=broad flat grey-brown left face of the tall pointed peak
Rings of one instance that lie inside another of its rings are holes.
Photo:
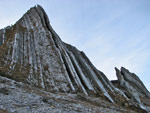
[[[15,25],[1,30],[0,70],[13,79],[66,92],[69,91],[67,71],[48,26],[45,12],[37,6]]]

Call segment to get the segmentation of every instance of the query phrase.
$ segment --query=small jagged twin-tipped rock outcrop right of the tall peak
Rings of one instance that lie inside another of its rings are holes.
[[[115,82],[117,84],[114,83],[116,87],[122,90],[131,101],[138,103],[141,109],[146,110],[147,106],[142,100],[145,98],[150,99],[150,93],[139,77],[124,67],[121,67],[121,71],[117,68],[115,70],[118,78],[118,81]]]

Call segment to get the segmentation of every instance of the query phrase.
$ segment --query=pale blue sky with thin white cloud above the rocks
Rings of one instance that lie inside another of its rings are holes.
[[[0,0],[0,29],[37,4],[61,39],[110,80],[123,66],[150,91],[150,0]]]

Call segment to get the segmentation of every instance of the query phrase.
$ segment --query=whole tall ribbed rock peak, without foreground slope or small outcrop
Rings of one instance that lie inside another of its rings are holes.
[[[104,95],[114,87],[83,52],[65,44],[41,6],[31,8],[15,25],[0,30],[0,71],[48,91]]]

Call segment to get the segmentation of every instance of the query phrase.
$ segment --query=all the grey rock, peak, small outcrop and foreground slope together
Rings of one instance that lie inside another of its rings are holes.
[[[0,109],[19,113],[97,112],[102,107],[107,109],[103,112],[127,112],[117,107],[124,105],[130,112],[132,107],[134,111],[149,112],[149,102],[144,100],[150,93],[135,74],[115,68],[118,80],[110,81],[83,51],[60,39],[40,5],[0,30],[0,51],[0,98],[4,101]],[[30,94],[32,91],[38,94]]]

